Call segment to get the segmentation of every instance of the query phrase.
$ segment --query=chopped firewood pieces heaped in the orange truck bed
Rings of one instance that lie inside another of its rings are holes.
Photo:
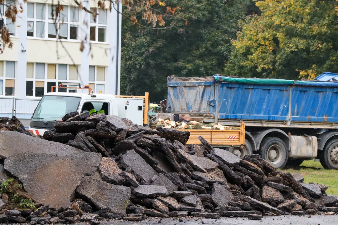
[[[163,128],[175,128],[175,129],[194,129],[194,130],[239,130],[234,126],[224,126],[216,123],[200,123],[197,121],[190,122],[175,122],[171,121],[170,118],[158,119],[158,123],[153,126],[162,126]]]

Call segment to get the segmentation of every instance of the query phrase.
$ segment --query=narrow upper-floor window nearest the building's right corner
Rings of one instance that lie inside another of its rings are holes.
[[[95,17],[91,15],[90,40],[106,42],[107,11],[96,8],[91,8],[91,11],[97,12],[97,14]]]

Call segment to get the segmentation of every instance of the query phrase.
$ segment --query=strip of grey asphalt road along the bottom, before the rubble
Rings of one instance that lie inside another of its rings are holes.
[[[337,225],[338,215],[334,216],[266,216],[261,220],[249,220],[247,218],[227,218],[219,220],[202,218],[183,218],[183,222],[178,219],[148,219],[140,222],[129,221],[110,221],[101,225],[199,225],[202,221],[205,225]]]

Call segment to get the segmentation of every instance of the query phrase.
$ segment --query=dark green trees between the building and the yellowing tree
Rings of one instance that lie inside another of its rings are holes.
[[[179,6],[175,16],[163,16],[162,30],[122,27],[121,93],[150,92],[150,101],[167,96],[167,77],[200,77],[222,73],[230,57],[237,22],[257,12],[251,0],[169,0]],[[166,7],[158,10],[166,11]],[[127,12],[125,12],[127,14]],[[159,14],[159,13],[158,13]],[[140,21],[142,23],[142,21]]]

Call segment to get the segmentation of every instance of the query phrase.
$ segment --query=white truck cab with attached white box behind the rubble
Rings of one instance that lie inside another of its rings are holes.
[[[61,121],[67,113],[78,111],[104,112],[106,115],[126,117],[133,123],[143,125],[144,99],[146,96],[115,96],[112,94],[88,94],[71,92],[49,92],[42,97],[34,110],[29,130],[43,135],[54,128],[54,123]]]

